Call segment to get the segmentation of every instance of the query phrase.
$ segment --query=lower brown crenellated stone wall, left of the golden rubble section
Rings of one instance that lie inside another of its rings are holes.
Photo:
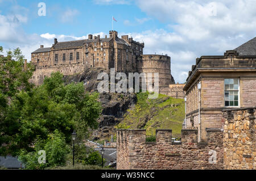
[[[197,143],[196,129],[182,130],[182,144],[173,145],[171,130],[156,130],[156,142],[146,142],[145,130],[118,129],[117,169],[223,169],[223,133],[207,133],[208,142]]]

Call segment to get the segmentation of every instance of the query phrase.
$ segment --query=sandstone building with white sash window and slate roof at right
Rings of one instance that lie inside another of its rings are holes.
[[[222,110],[256,106],[256,37],[224,56],[201,56],[184,86],[187,98],[184,128],[222,128]]]

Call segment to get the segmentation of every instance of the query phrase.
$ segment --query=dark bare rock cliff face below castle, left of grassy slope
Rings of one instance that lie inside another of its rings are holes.
[[[65,82],[84,82],[85,91],[97,91],[97,80],[99,73],[105,71],[102,68],[90,68],[81,74],[65,76]],[[137,96],[134,93],[101,93],[99,101],[102,106],[102,113],[98,119],[99,127],[93,131],[92,140],[106,139],[115,134],[114,126],[123,120],[123,115],[129,108],[132,108],[137,102]]]

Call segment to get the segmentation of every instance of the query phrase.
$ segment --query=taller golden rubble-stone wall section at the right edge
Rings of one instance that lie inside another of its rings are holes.
[[[224,112],[224,168],[256,170],[256,112]]]

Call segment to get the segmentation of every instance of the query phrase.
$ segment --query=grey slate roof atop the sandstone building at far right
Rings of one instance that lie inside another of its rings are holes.
[[[256,56],[256,37],[236,49],[240,56]]]

